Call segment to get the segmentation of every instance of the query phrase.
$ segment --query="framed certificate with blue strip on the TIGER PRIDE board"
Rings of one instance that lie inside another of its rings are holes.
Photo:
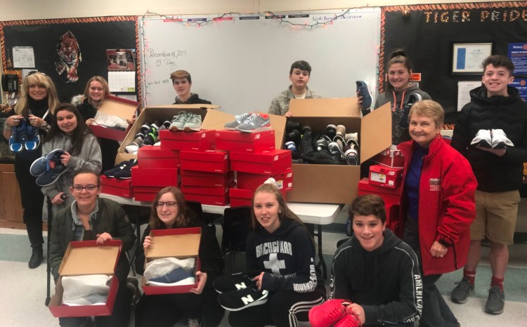
[[[492,54],[493,43],[452,43],[453,75],[479,75],[483,73],[481,62]]]

